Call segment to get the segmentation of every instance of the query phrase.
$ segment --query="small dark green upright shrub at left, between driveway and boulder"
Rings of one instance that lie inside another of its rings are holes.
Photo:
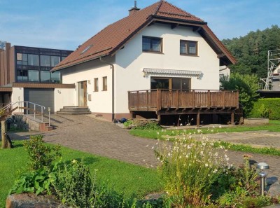
[[[52,161],[62,155],[60,152],[60,146],[46,146],[42,135],[30,136],[30,139],[24,141],[23,145],[29,155],[29,165],[31,169],[48,167]]]

